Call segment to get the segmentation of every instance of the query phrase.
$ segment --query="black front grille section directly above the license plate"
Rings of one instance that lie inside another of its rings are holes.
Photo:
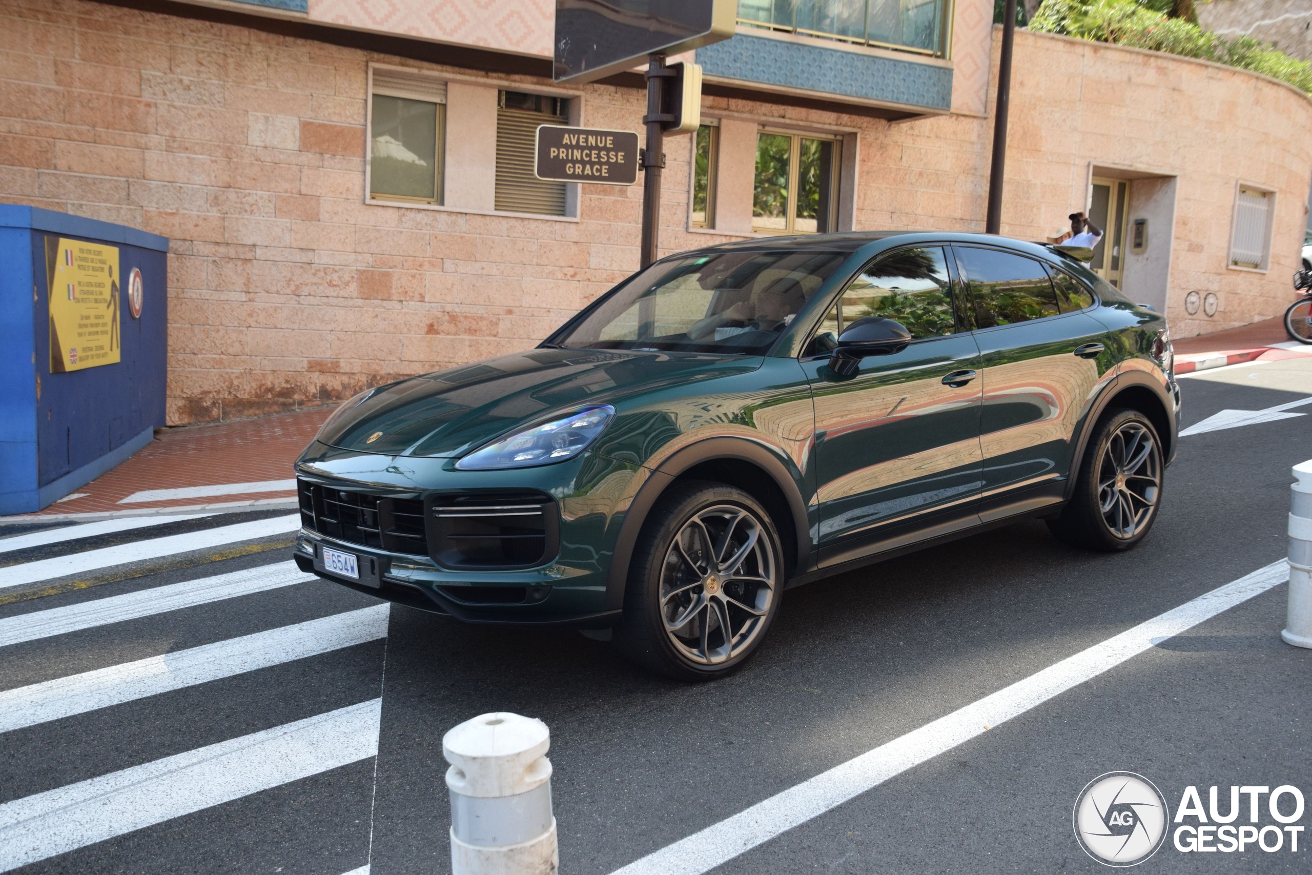
[[[297,491],[300,525],[311,531],[361,547],[428,555],[422,501],[337,489],[307,480],[298,480]]]

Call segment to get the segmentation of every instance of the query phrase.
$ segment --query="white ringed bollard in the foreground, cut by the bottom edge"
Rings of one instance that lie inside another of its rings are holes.
[[[546,723],[505,711],[442,736],[453,875],[555,875],[550,746]]]

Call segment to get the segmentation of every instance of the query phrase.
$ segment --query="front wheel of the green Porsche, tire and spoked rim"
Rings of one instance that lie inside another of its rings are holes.
[[[614,641],[661,674],[724,677],[761,645],[782,596],[783,551],[765,508],[729,485],[678,484],[652,508],[634,547]]]

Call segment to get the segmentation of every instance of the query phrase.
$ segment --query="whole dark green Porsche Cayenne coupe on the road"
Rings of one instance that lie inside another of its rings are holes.
[[[537,349],[350,399],[297,462],[307,572],[474,623],[740,666],[783,592],[1019,517],[1161,506],[1166,320],[1044,245],[758,239],[657,261]]]

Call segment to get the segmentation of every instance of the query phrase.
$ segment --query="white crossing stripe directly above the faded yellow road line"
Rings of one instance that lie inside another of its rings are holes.
[[[232,526],[218,526],[202,531],[189,531],[182,535],[151,538],[117,547],[102,547],[67,556],[54,556],[39,561],[9,565],[8,568],[0,568],[0,589],[34,584],[39,580],[50,580],[51,577],[80,575],[87,571],[122,565],[130,561],[159,559],[160,556],[172,556],[173,554],[189,552],[192,550],[219,547],[237,540],[281,535],[287,531],[295,531],[299,527],[300,514],[293,513],[283,517],[273,517],[272,519],[239,522]]]

